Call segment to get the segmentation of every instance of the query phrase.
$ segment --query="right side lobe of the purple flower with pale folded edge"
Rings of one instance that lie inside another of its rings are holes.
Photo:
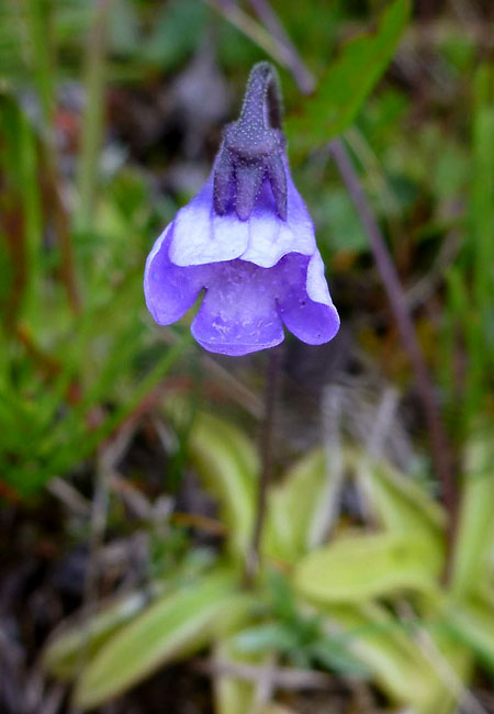
[[[278,299],[278,312],[291,333],[308,345],[322,345],[336,335],[339,316],[324,277],[324,263],[318,250],[307,265],[303,256],[284,259],[285,286]]]

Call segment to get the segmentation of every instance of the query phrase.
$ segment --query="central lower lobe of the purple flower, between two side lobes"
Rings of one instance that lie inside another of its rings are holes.
[[[192,335],[210,352],[239,356],[283,341],[277,313],[277,276],[244,260],[211,266]]]

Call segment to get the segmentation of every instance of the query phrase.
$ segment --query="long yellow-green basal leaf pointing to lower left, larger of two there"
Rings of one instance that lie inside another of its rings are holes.
[[[235,594],[235,577],[224,571],[158,600],[98,651],[77,683],[76,706],[97,706],[203,647],[245,606],[245,595]]]

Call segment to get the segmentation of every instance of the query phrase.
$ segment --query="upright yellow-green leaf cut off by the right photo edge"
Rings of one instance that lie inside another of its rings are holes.
[[[494,535],[493,438],[478,435],[469,444],[454,544],[451,590],[464,596],[483,581]]]

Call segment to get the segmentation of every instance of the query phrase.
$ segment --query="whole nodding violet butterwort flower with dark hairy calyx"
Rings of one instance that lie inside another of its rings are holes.
[[[223,355],[274,347],[283,325],[310,345],[338,332],[314,225],[290,175],[270,64],[254,66],[210,178],[155,243],[144,291],[160,325],[202,293],[192,335]]]

